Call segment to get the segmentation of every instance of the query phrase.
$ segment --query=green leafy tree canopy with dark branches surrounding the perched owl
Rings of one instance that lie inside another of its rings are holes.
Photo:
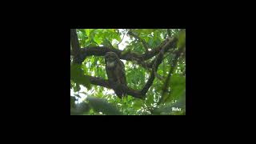
[[[124,62],[127,97],[108,81],[107,52]],[[186,114],[186,29],[70,29],[70,114]]]

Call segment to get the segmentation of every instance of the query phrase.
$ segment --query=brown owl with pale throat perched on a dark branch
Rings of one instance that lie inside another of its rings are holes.
[[[118,98],[122,98],[126,94],[123,93],[122,85],[126,85],[126,71],[123,62],[114,52],[107,52],[105,55],[106,74],[108,81],[114,86],[114,92]]]

